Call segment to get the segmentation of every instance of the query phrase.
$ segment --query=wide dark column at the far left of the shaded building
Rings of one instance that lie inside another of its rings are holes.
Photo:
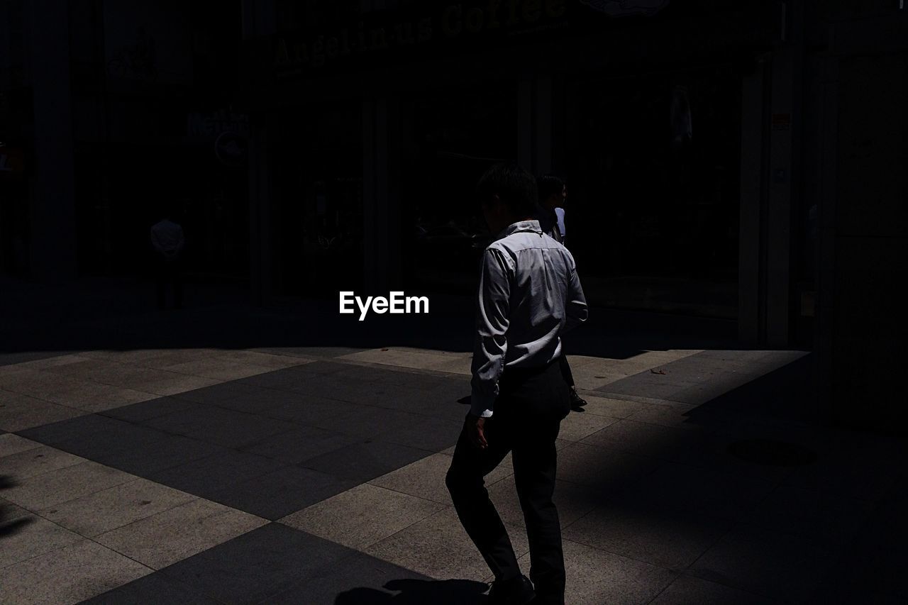
[[[67,282],[78,273],[69,3],[32,0],[30,4],[35,107],[30,273],[43,282]]]

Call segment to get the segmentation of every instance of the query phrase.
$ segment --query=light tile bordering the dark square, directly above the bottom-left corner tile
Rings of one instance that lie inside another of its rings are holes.
[[[135,479],[39,513],[69,530],[92,538],[193,500],[196,496],[184,491]]]

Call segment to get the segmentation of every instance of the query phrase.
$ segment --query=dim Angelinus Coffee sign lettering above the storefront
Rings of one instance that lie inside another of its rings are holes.
[[[339,57],[393,47],[424,44],[524,28],[536,28],[558,19],[567,11],[567,0],[488,0],[485,5],[445,6],[439,15],[401,20],[390,25],[344,27],[335,35],[317,35],[309,42],[278,38],[274,63],[278,67],[321,67]]]

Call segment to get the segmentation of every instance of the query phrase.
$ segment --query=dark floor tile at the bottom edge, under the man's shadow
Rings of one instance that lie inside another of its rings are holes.
[[[488,584],[475,580],[432,580],[358,553],[329,573],[301,580],[267,602],[273,605],[469,605],[485,602],[482,593],[488,588]]]

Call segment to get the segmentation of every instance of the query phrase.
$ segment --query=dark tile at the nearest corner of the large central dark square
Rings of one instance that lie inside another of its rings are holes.
[[[234,509],[277,521],[355,485],[357,481],[290,466],[214,491],[207,497]]]

